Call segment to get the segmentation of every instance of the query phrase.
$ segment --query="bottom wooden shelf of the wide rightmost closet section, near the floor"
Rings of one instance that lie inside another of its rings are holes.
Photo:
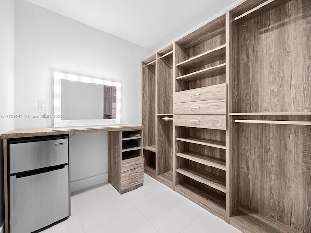
[[[268,216],[259,214],[245,206],[240,206],[230,217],[230,224],[247,233],[301,233]]]

